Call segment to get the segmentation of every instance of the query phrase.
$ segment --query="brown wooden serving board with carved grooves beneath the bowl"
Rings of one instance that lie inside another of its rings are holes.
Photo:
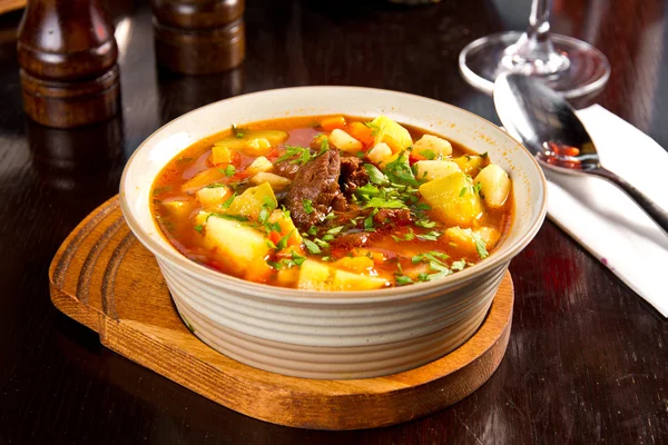
[[[315,380],[240,364],[195,337],[179,318],[154,256],[125,224],[118,197],[70,234],[49,278],[53,305],[99,333],[108,348],[236,412],[317,429],[396,424],[466,397],[501,363],[513,305],[507,274],[480,329],[448,356],[385,377]]]

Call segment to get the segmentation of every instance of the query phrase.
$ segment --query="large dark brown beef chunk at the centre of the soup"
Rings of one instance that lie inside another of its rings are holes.
[[[285,197],[285,207],[299,230],[308,230],[311,226],[322,221],[333,204],[342,207],[340,175],[338,150],[327,150],[299,168]],[[307,214],[304,209],[304,200],[311,201],[312,212]]]

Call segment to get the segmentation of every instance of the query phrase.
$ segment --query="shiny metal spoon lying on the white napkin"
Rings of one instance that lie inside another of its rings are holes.
[[[601,166],[591,137],[571,106],[540,79],[503,73],[494,81],[494,106],[505,130],[542,166],[595,175],[626,191],[668,234],[668,211]]]

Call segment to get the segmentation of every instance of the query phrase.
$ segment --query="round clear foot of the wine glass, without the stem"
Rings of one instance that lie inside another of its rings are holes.
[[[521,63],[509,63],[508,48],[517,43],[522,32],[508,31],[487,36],[469,43],[460,53],[459,66],[464,79],[474,88],[491,95],[494,80],[507,71],[534,75]],[[568,65],[554,73],[540,77],[567,99],[587,96],[600,90],[610,78],[610,63],[591,44],[568,36],[551,34],[556,57],[564,57]],[[539,67],[540,68],[540,67]],[[534,70],[536,71],[536,70]]]

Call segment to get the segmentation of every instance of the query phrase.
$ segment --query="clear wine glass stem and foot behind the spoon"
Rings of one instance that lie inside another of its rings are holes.
[[[552,0],[532,0],[529,27],[469,43],[460,53],[464,79],[489,95],[505,71],[540,76],[568,99],[601,89],[610,77],[610,63],[598,49],[572,37],[550,33]]]

